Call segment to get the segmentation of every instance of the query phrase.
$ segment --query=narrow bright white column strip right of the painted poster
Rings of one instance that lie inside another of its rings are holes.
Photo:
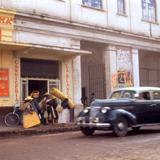
[[[134,86],[138,87],[140,86],[138,49],[133,48],[132,55],[133,55],[133,60],[132,60],[133,61],[133,82],[134,82]]]

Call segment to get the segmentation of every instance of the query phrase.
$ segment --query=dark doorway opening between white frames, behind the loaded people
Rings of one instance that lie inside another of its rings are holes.
[[[39,91],[41,99],[43,94],[47,92],[47,81],[46,80],[28,80],[28,92]]]

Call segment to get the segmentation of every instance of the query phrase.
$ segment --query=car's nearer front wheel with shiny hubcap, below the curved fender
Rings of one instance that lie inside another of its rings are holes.
[[[124,117],[119,117],[113,123],[113,133],[118,137],[124,137],[128,132],[128,121]]]

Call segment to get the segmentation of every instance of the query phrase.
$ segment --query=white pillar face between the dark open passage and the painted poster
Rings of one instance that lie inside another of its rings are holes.
[[[106,98],[114,89],[116,73],[116,46],[107,45],[104,50],[105,79],[106,79]]]

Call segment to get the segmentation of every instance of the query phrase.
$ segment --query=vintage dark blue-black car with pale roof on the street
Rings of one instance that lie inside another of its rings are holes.
[[[77,125],[84,135],[111,129],[126,136],[128,129],[160,124],[160,88],[129,87],[115,90],[109,99],[96,99],[80,112]]]

